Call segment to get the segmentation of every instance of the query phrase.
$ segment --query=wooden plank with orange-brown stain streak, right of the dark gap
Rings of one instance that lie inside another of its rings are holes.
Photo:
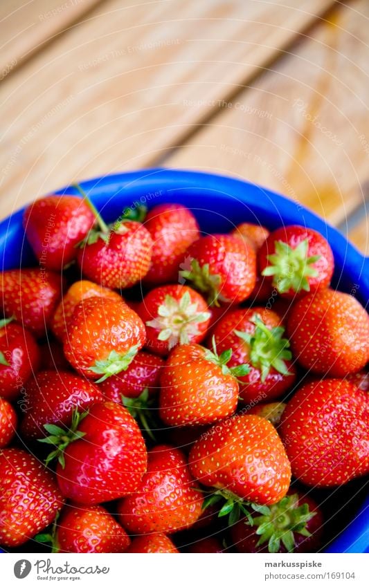
[[[339,223],[369,176],[369,3],[340,6],[165,161],[260,183]]]

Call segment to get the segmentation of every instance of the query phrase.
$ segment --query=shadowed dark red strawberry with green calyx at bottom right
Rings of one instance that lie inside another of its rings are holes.
[[[231,529],[237,552],[317,552],[322,534],[321,510],[300,492],[289,492],[279,503],[264,506]]]

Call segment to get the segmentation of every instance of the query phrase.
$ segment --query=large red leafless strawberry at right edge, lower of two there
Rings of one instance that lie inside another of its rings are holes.
[[[368,393],[353,384],[326,379],[301,387],[280,424],[294,476],[336,487],[368,474],[368,422]]]

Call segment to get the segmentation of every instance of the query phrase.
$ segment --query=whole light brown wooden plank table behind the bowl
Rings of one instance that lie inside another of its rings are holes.
[[[2,0],[0,216],[123,169],[247,178],[369,252],[368,0]]]

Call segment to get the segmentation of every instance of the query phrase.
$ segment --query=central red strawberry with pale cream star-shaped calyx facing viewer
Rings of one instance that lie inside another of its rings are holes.
[[[177,344],[201,342],[210,312],[203,297],[187,286],[161,286],[151,290],[138,308],[146,325],[146,346],[168,355]]]

